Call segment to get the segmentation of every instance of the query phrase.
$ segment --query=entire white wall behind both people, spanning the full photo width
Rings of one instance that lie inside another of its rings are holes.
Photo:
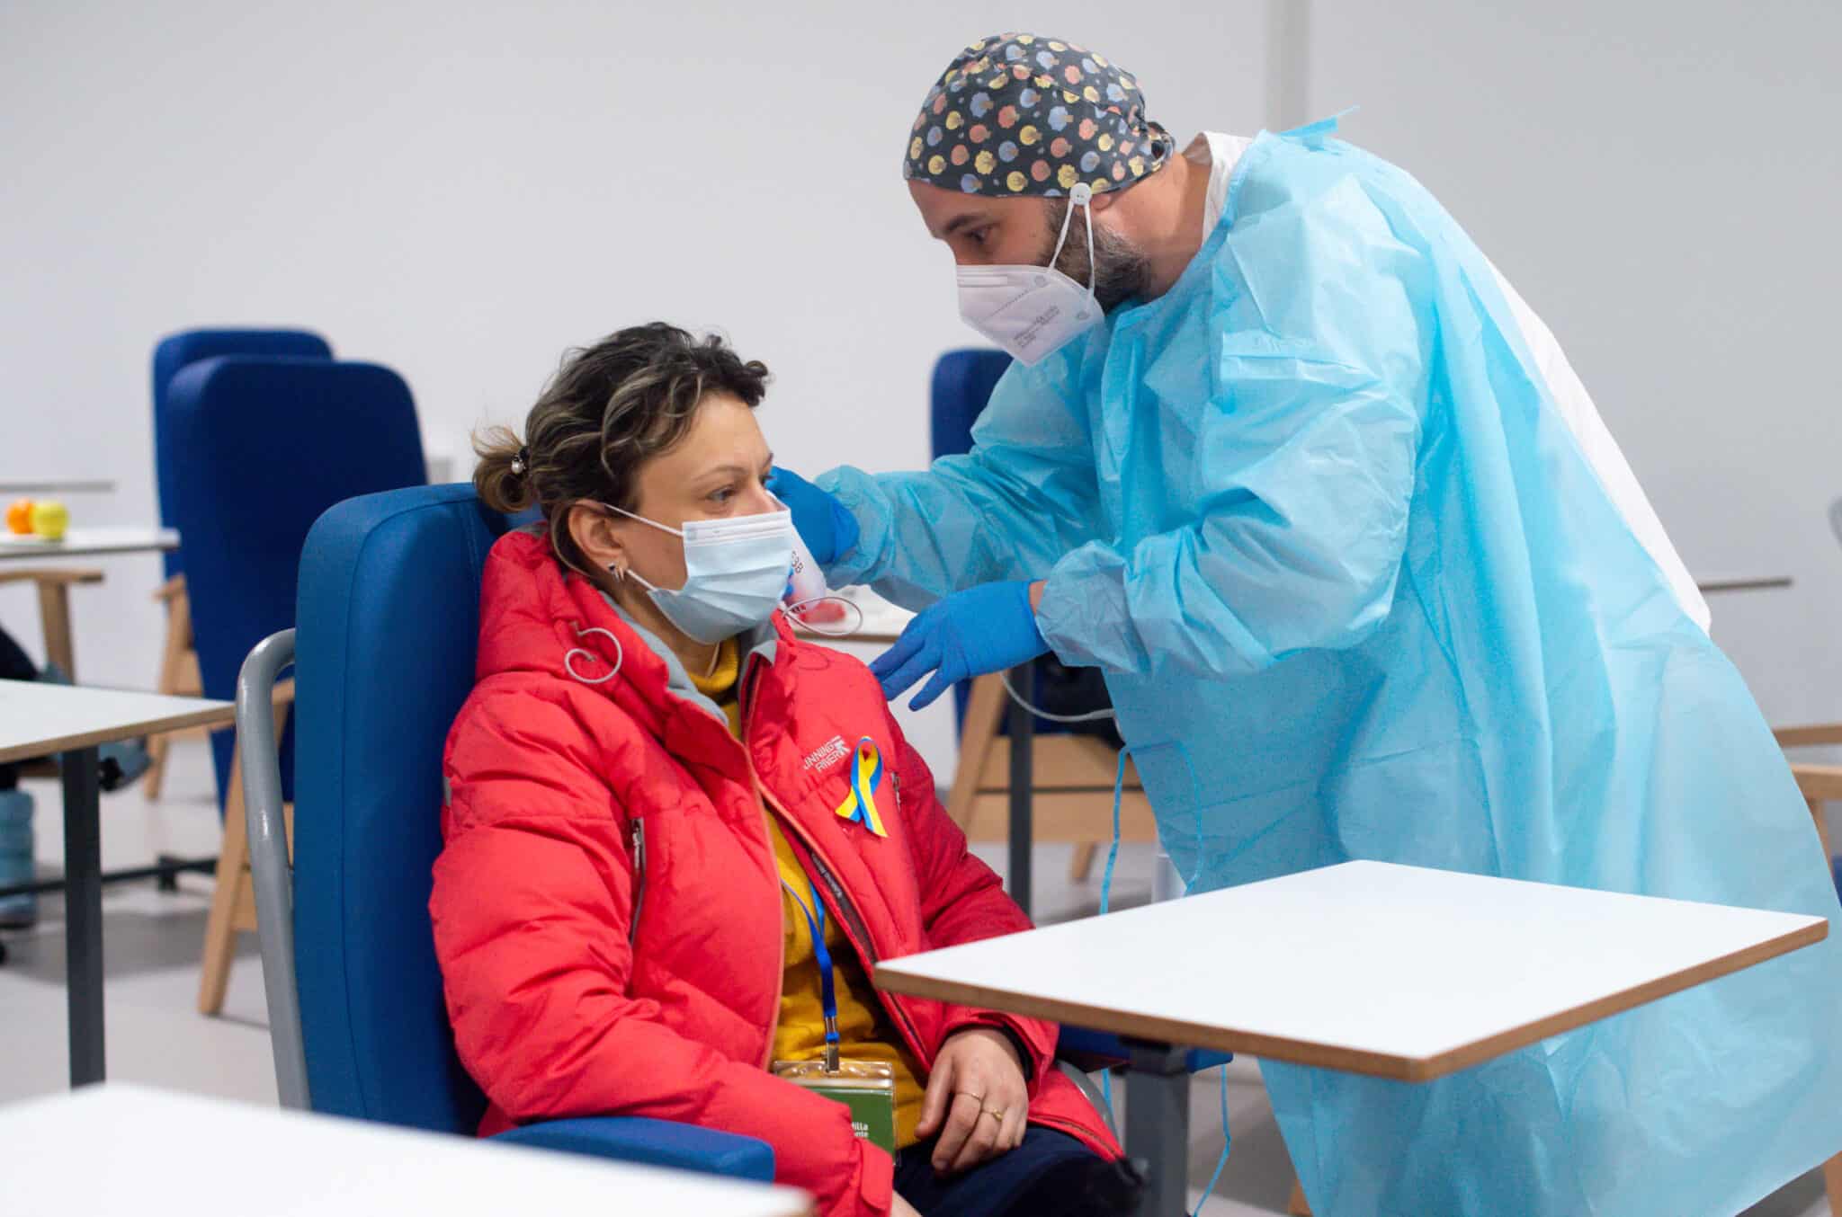
[[[431,449],[462,455],[564,346],[650,317],[774,366],[763,422],[788,464],[914,466],[927,368],[971,335],[908,210],[903,133],[960,41],[1052,29],[1138,72],[1179,136],[1361,103],[1345,133],[1426,180],[1544,313],[1691,569],[1798,580],[1713,602],[1766,714],[1842,716],[1822,516],[1842,493],[1842,7],[1205,11],[13,0],[0,477],[114,477],[72,501],[81,523],[151,519],[147,355],[186,326],[315,326],[398,368]],[[1265,72],[1269,39],[1302,48],[1302,79]],[[147,685],[158,563],[98,565],[83,676]],[[0,624],[37,650],[29,593],[0,587]],[[950,755],[939,714],[921,736]]]

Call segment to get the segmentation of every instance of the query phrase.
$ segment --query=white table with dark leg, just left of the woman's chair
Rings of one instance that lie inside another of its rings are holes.
[[[230,701],[0,681],[0,762],[57,753],[64,782],[64,963],[70,1084],[99,1083],[103,1053],[103,873],[96,748],[158,731],[217,727]],[[0,1142],[4,1143],[4,1142]]]

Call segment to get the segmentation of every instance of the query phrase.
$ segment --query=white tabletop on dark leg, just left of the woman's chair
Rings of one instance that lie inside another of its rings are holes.
[[[168,698],[127,689],[0,681],[0,760],[46,757],[181,727],[221,727],[230,701]]]

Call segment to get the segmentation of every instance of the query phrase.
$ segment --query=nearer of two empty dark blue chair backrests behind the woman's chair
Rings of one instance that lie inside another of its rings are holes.
[[[243,657],[295,624],[300,545],[326,508],[427,477],[416,405],[396,372],[330,359],[230,355],[168,385],[168,433],[186,453],[173,523],[208,698],[234,698]],[[219,801],[234,733],[212,736]],[[282,740],[282,790],[291,749]]]

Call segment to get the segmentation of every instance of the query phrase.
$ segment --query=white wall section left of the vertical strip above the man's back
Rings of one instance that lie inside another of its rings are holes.
[[[313,326],[402,372],[429,447],[460,455],[567,344],[656,317],[775,370],[787,464],[912,468],[928,366],[973,337],[901,184],[928,85],[971,39],[1039,29],[1131,66],[1179,134],[1253,129],[1265,0],[1207,13],[9,0],[0,477],[114,477],[79,523],[151,519],[147,357],[188,326]],[[149,685],[158,563],[99,565],[81,674]],[[37,650],[28,593],[0,589],[0,624]],[[950,759],[945,711],[921,735]]]

